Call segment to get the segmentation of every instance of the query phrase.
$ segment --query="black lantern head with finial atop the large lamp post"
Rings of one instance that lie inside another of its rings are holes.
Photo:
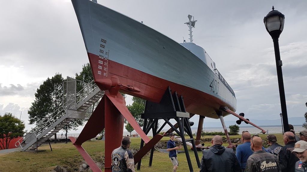
[[[285,15],[277,10],[274,10],[274,6],[272,9],[273,10],[270,11],[266,17],[264,17],[263,22],[266,26],[266,31],[269,32],[272,39],[276,39],[279,38],[282,30],[284,29]]]

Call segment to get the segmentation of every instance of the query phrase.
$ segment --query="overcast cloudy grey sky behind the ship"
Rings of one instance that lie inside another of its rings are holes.
[[[285,15],[279,46],[288,118],[302,117],[307,111],[307,1],[98,3],[143,21],[179,43],[189,40],[184,23],[189,14],[194,16],[193,42],[206,50],[234,90],[236,112],[245,113],[251,121],[279,119],[281,113],[274,45],[263,23],[274,5]],[[21,117],[30,130],[35,126],[29,125],[27,110],[36,89],[56,73],[74,77],[88,62],[80,27],[69,0],[0,1],[0,23],[0,113]],[[131,96],[126,102],[132,103]],[[224,120],[235,124],[237,118],[229,115]],[[197,123],[198,117],[191,121]],[[204,121],[204,126],[218,122],[210,118]],[[70,132],[80,133],[81,128]]]

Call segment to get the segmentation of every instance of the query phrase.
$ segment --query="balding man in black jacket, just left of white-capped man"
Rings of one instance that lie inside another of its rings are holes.
[[[284,143],[286,144],[278,154],[278,161],[282,172],[294,172],[295,163],[299,160],[296,155],[291,153],[295,145],[294,134],[290,131],[284,133]]]

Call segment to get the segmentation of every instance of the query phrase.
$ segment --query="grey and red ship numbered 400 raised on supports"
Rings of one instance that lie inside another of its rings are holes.
[[[105,157],[111,157],[111,151],[120,145],[122,139],[122,117],[142,137],[140,151],[134,155],[138,169],[141,158],[150,149],[152,160],[153,146],[163,137],[157,133],[166,124],[171,126],[166,134],[175,131],[181,136],[190,171],[193,169],[186,142],[191,141],[189,144],[192,144],[200,167],[196,148],[201,148],[200,134],[205,117],[221,120],[229,146],[233,146],[223,117],[233,114],[247,120],[235,114],[235,93],[216,69],[215,62],[202,47],[193,43],[194,17],[188,15],[189,20],[185,23],[189,28],[190,42],[177,43],[142,22],[98,4],[96,0],[72,0],[72,4],[95,83],[105,90],[103,99],[74,141],[79,151],[82,148],[78,145],[86,141],[88,133],[94,136],[105,128]],[[119,92],[146,99],[142,114],[143,129],[127,109]],[[188,121],[195,114],[200,115],[196,140]],[[171,124],[170,119],[175,119],[177,124]],[[160,129],[157,128],[157,120],[165,121]],[[151,129],[154,137],[149,139],[146,134]],[[184,132],[190,139],[185,140]],[[90,159],[84,150],[80,153],[86,161]],[[105,160],[105,170],[111,171],[109,158]]]

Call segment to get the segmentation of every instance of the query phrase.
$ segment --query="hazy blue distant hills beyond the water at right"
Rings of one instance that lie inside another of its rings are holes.
[[[304,117],[292,117],[292,118],[288,118],[288,122],[289,124],[292,124],[294,126],[300,126],[303,125],[303,123],[305,122],[305,118]],[[260,127],[267,127],[267,126],[281,126],[281,119],[272,119],[272,120],[257,120],[257,119],[253,119],[251,120],[251,122],[253,122],[254,124],[260,126]],[[228,127],[229,125],[235,125],[236,122],[235,121],[225,121],[225,125],[226,127]],[[236,124],[237,125],[237,124]],[[193,126],[198,126],[198,123],[196,122]],[[248,128],[248,127],[254,127],[250,124],[245,124],[244,122],[242,122],[240,125],[240,127],[244,127],[244,128]],[[222,124],[221,122],[206,122],[206,119],[204,120],[204,127],[205,129],[212,129],[212,128],[222,128]],[[191,127],[191,129],[197,129],[197,127]]]

